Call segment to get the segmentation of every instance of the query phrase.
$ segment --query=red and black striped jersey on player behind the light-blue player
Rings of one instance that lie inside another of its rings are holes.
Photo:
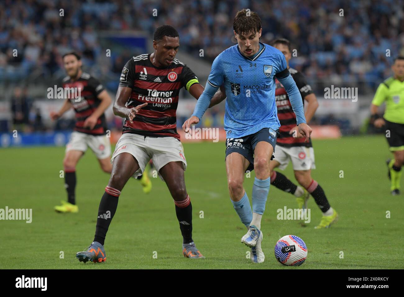
[[[304,97],[313,93],[311,91],[311,86],[307,84],[305,77],[303,74],[298,72],[293,68],[289,68],[290,75],[293,80],[295,80],[297,88],[299,88],[300,94],[303,99],[304,105]],[[296,126],[296,115],[293,112],[292,105],[290,105],[289,96],[286,93],[285,88],[282,84],[276,80],[276,90],[275,90],[275,100],[276,107],[278,108],[278,119],[280,122],[279,128],[279,137],[276,140],[276,145],[284,146],[284,147],[293,147],[293,146],[305,146],[311,147],[311,139],[308,142],[305,141],[305,137],[293,137],[292,134],[289,134],[290,129]]]

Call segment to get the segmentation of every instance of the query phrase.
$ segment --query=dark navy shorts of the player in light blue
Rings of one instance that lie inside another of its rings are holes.
[[[254,149],[257,143],[259,143],[259,141],[266,141],[274,147],[275,152],[276,139],[278,136],[279,129],[275,131],[272,128],[263,128],[254,134],[241,138],[227,138],[226,157],[233,152],[239,153],[250,162],[247,171],[252,171],[254,169]],[[271,160],[273,158],[274,155],[272,155]]]

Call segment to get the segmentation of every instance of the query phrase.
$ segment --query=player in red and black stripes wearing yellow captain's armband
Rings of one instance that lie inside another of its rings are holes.
[[[122,70],[114,113],[126,120],[112,155],[112,174],[99,205],[95,238],[86,251],[76,254],[80,261],[105,261],[104,240],[118,197],[126,181],[142,174],[150,159],[174,199],[183,255],[204,258],[192,239],[192,206],[184,181],[187,162],[176,128],[181,88],[198,99],[204,87],[189,67],[175,59],[179,35],[172,26],[156,29],[153,48],[154,53],[133,57]],[[213,101],[221,97],[218,91]]]

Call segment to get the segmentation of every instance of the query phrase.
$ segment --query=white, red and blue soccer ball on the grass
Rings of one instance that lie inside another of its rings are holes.
[[[302,265],[307,258],[306,244],[300,237],[286,235],[276,243],[275,257],[284,265]]]

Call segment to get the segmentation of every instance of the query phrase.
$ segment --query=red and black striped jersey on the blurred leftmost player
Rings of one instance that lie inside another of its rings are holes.
[[[78,80],[72,81],[70,76],[63,79],[63,88],[76,88],[80,93],[76,91],[76,94],[80,94],[80,98],[74,98],[69,96],[70,102],[73,105],[76,112],[76,125],[74,130],[91,135],[103,135],[107,131],[107,122],[105,115],[102,114],[95,124],[93,129],[84,127],[84,121],[91,116],[97,109],[101,100],[98,99],[98,95],[104,91],[102,84],[96,79],[90,76],[90,74],[83,72]]]

